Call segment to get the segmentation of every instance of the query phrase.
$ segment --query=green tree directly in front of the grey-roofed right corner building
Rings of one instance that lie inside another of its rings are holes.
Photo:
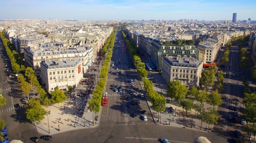
[[[171,81],[168,85],[167,95],[170,98],[175,98],[175,100],[180,101],[185,99],[188,89],[185,85],[181,85],[179,80]]]

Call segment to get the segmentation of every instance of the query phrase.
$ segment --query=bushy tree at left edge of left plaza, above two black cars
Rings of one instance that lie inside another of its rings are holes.
[[[40,104],[39,100],[31,98],[29,104],[25,106],[26,118],[30,121],[41,121],[44,119],[45,110]]]

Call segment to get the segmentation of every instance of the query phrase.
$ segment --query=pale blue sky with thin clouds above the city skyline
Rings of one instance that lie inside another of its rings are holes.
[[[256,0],[0,0],[3,19],[256,20]]]

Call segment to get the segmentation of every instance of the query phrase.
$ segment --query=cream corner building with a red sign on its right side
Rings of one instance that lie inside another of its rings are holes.
[[[78,85],[83,78],[81,63],[81,58],[60,61],[50,61],[49,58],[42,60],[40,63],[42,84],[49,92],[55,88],[67,90],[68,86]]]

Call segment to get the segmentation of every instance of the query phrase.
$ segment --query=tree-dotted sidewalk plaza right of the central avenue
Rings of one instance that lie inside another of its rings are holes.
[[[161,90],[162,90],[162,94],[166,95],[168,90],[167,83],[165,82],[165,80],[162,79],[161,74],[157,74],[156,72],[149,73],[149,78],[151,77],[151,75],[153,77],[152,81],[154,82],[153,89],[158,93],[161,93]],[[139,82],[140,82],[141,88],[145,90],[143,87],[143,82],[142,81],[139,81]],[[204,131],[209,131],[205,129],[206,125],[208,126],[208,124],[206,124],[205,122],[201,122],[201,117],[197,116],[197,113],[195,110],[188,111],[188,114],[186,116],[185,115],[186,111],[183,110],[182,106],[179,106],[178,101],[175,101],[175,100],[171,101],[169,98],[166,97],[167,103],[166,103],[165,111],[162,113],[157,113],[157,111],[153,110],[152,103],[149,101],[149,98],[147,96],[146,96],[146,100],[149,105],[149,110],[151,112],[154,123],[156,123],[157,125],[170,125],[173,127],[182,127],[182,128],[192,127],[192,129],[199,129],[199,130],[201,129]],[[170,111],[169,107],[172,107],[172,111]],[[183,120],[183,118],[185,118],[185,120]],[[210,125],[209,128],[213,128],[213,125]]]

